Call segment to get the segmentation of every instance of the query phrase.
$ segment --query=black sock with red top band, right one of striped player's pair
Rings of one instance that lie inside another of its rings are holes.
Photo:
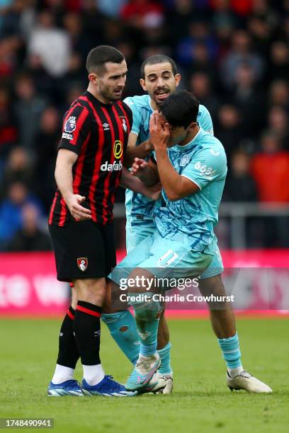
[[[78,301],[73,329],[81,364],[96,366],[101,364],[99,347],[101,340],[101,307],[86,301]],[[84,379],[86,377],[84,376]]]

